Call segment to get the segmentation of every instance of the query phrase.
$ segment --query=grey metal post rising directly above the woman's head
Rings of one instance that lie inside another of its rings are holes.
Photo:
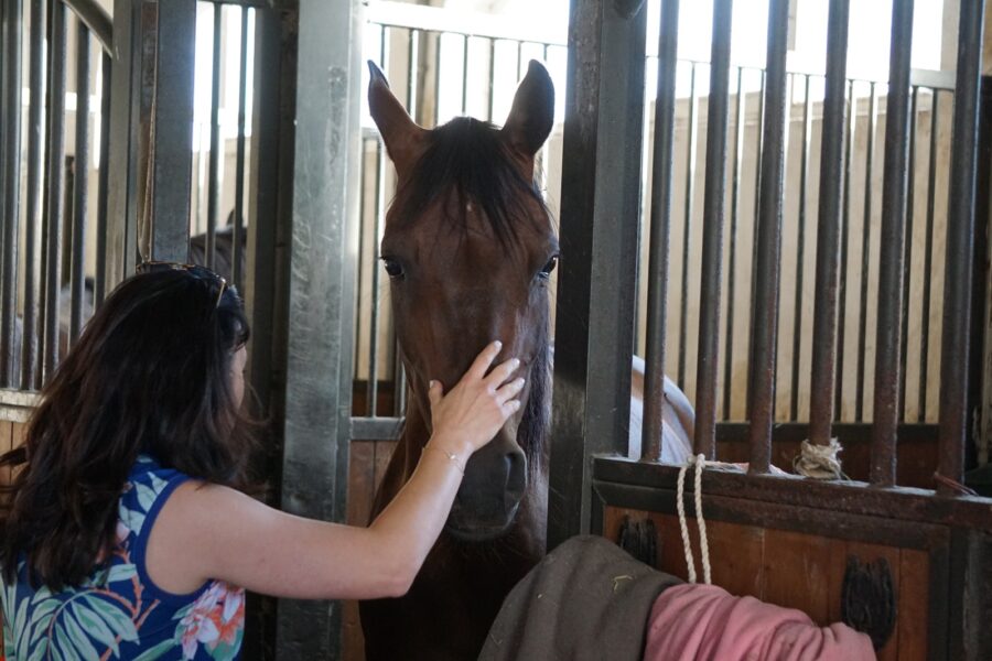
[[[155,44],[151,218],[145,218],[151,252],[145,257],[183,262],[190,257],[196,0],[159,3]]]

